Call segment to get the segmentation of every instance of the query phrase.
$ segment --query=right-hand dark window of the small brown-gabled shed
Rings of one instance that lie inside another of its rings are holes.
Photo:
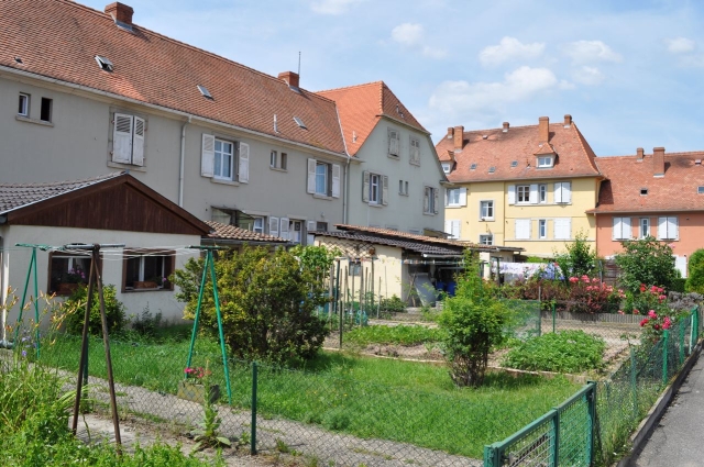
[[[175,254],[164,249],[125,249],[122,290],[173,290]]]

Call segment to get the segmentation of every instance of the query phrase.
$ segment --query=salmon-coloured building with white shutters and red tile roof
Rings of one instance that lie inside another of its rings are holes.
[[[597,157],[606,178],[596,208],[596,248],[602,257],[623,252],[623,242],[652,236],[668,242],[686,277],[690,255],[704,247],[704,152]]]

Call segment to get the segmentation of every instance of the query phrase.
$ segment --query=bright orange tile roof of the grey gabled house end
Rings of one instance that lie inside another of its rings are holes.
[[[340,123],[350,155],[356,155],[382,116],[428,131],[416,120],[384,81],[318,91],[338,104]]]

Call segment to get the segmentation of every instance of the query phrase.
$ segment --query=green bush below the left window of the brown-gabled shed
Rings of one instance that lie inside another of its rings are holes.
[[[124,304],[117,298],[114,286],[103,286],[102,292],[106,303],[106,318],[108,320],[108,332],[110,334],[120,333],[124,330],[127,319],[124,315]],[[88,301],[88,288],[78,287],[74,293],[62,304],[62,311],[66,314],[66,331],[70,334],[81,334],[84,331],[84,316],[86,313],[86,302]],[[94,293],[88,320],[88,333],[90,335],[102,335],[102,322],[100,320],[100,300],[98,288]]]

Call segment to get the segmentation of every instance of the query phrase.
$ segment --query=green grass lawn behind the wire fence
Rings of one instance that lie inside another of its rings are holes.
[[[111,344],[119,382],[176,392],[184,377],[187,337],[114,338]],[[76,370],[79,347],[77,338],[62,336],[42,347],[43,359]],[[222,381],[220,362],[217,342],[199,337],[191,366],[208,363],[213,377]],[[90,375],[106,376],[101,341],[91,342],[89,364]],[[233,405],[248,409],[251,366],[233,362],[230,380]],[[324,352],[296,370],[260,365],[257,386],[262,415],[474,458],[482,457],[484,444],[510,435],[579,389],[564,378],[504,375],[490,375],[480,389],[457,389],[442,366]]]

